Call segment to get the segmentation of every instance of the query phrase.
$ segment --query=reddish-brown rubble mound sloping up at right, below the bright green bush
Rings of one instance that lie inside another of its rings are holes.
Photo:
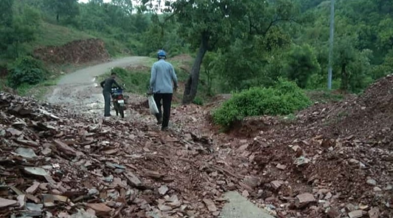
[[[273,117],[246,121],[243,130],[255,127],[256,120],[264,124],[253,132],[251,168],[261,171],[264,179],[286,183],[265,201],[286,205],[277,210],[285,216],[288,209],[299,208],[299,199],[295,205],[291,199],[309,192],[317,203],[304,210],[312,216],[392,217],[392,109],[390,75],[359,96],[316,103],[299,112],[295,121]],[[311,200],[310,195],[302,201]]]

